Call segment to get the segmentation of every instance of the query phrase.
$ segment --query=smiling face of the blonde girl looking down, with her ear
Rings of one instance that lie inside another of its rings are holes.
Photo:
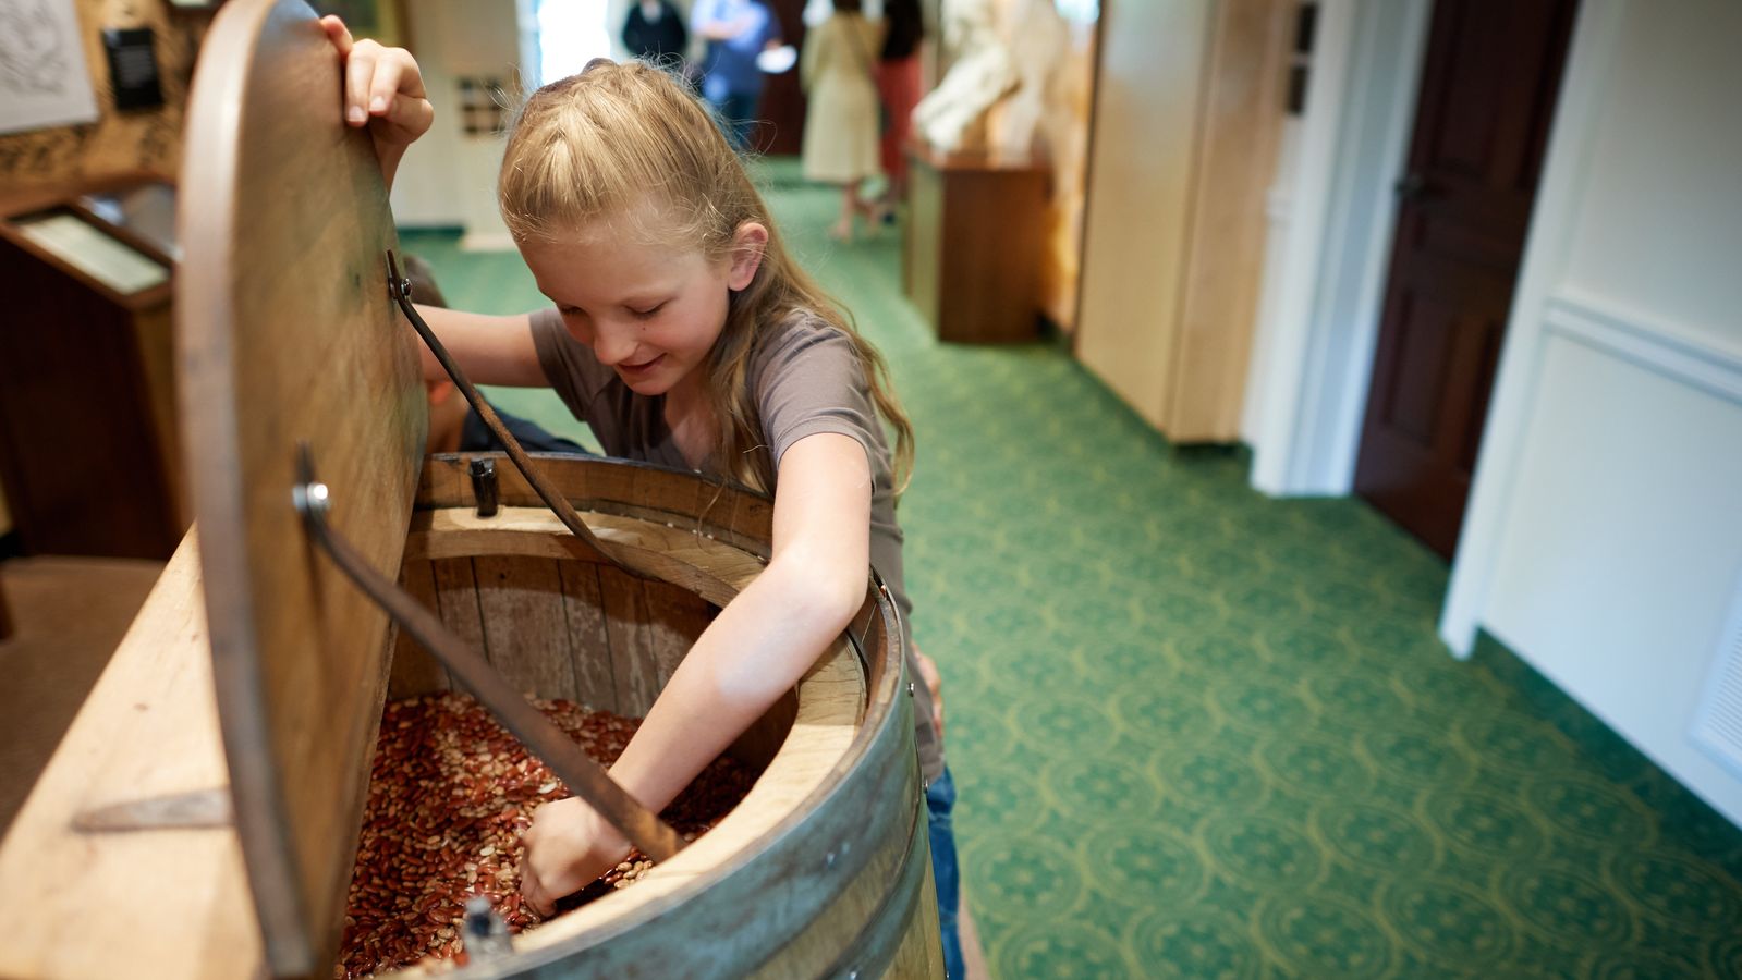
[[[665,395],[700,385],[726,299],[756,277],[766,242],[766,228],[746,223],[723,261],[622,235],[521,242],[521,256],[575,339],[632,392]]]

